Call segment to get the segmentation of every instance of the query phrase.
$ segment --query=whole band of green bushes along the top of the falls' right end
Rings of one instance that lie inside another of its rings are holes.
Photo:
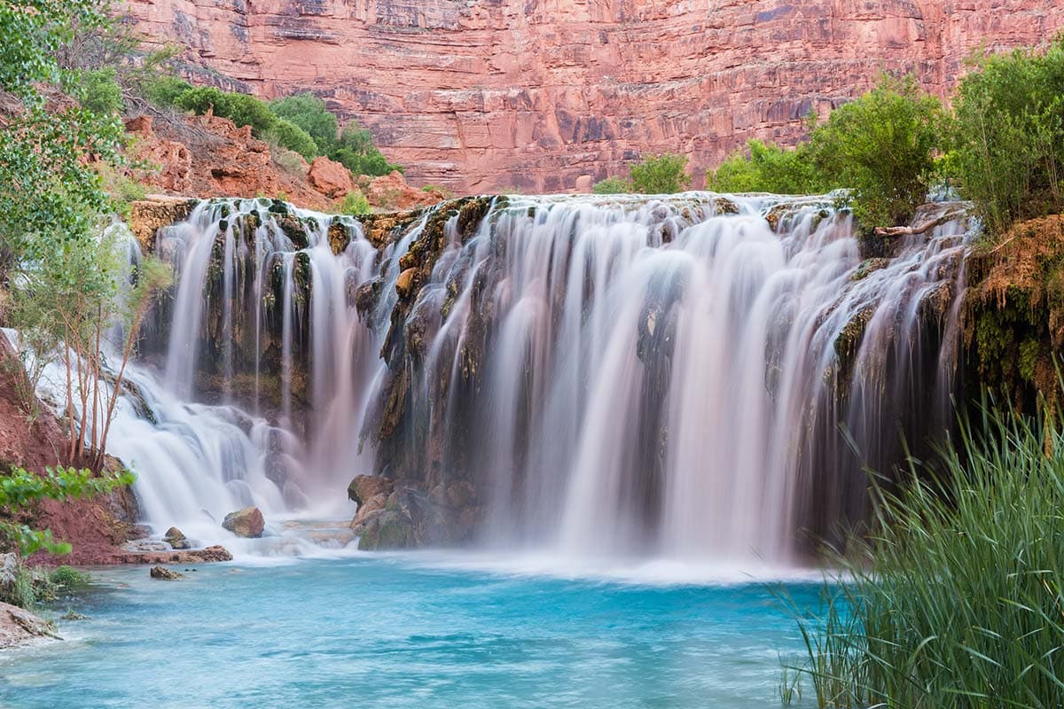
[[[910,79],[811,121],[793,149],[750,140],[715,170],[717,191],[849,189],[865,230],[909,219],[936,184],[971,200],[997,240],[1020,219],[1064,210],[1064,37],[1045,50],[972,60],[947,112]]]

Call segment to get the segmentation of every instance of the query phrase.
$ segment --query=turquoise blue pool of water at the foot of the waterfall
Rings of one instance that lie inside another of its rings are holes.
[[[64,642],[0,653],[0,707],[779,707],[774,586],[514,575],[431,555],[105,570]],[[778,587],[777,587],[778,588]],[[815,604],[818,587],[787,587]],[[59,609],[65,609],[64,606]]]

